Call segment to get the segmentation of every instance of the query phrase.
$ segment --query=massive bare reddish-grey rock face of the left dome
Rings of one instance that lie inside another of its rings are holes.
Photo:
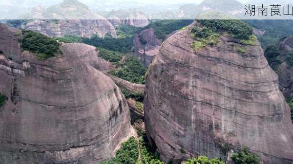
[[[91,46],[62,44],[38,60],[0,24],[0,164],[97,164],[132,132],[127,102]],[[96,54],[94,54],[97,56]]]

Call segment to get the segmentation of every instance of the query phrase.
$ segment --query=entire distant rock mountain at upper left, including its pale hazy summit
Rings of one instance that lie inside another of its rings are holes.
[[[34,7],[23,19],[29,20],[21,26],[24,30],[41,32],[47,36],[83,36],[110,34],[117,37],[114,26],[104,17],[91,11],[78,0],[63,0],[62,3],[44,9]]]

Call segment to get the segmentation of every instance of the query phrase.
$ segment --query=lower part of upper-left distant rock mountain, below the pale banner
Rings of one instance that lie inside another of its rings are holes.
[[[22,25],[21,28],[38,31],[47,36],[91,37],[96,34],[104,37],[109,33],[111,36],[117,37],[114,26],[101,16],[97,20],[33,20]]]

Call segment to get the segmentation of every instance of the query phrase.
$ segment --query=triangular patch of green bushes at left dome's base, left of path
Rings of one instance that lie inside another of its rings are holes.
[[[130,137],[122,143],[115,157],[101,164],[136,164],[138,159],[138,146],[134,137]]]

